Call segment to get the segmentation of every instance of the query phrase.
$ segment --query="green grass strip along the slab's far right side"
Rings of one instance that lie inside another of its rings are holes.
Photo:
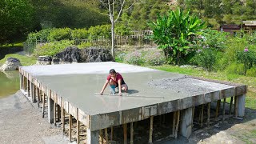
[[[178,74],[188,74],[201,78],[209,78],[226,82],[235,82],[241,83],[248,86],[248,92],[246,94],[246,107],[256,110],[256,78],[255,77],[246,77],[238,74],[226,74],[226,72],[209,72],[197,68],[181,68],[179,66],[150,66],[150,68],[157,70],[165,70],[168,72],[178,73]],[[226,102],[230,102],[229,99],[226,99]]]

